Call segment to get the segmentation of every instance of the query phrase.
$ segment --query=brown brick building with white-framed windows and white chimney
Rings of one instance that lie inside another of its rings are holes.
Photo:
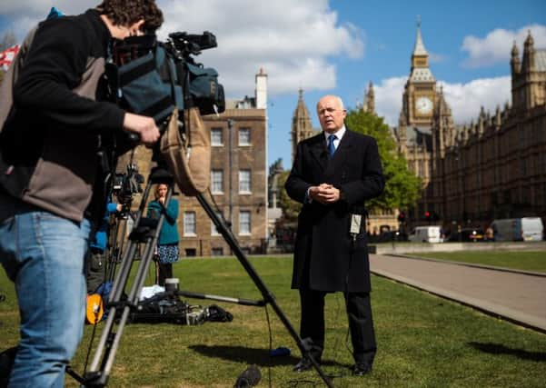
[[[218,213],[232,225],[233,235],[247,254],[264,253],[268,238],[267,75],[263,70],[255,76],[255,86],[254,97],[226,101],[222,114],[203,116],[212,146],[210,193],[204,197],[214,209],[218,206]],[[152,153],[144,146],[135,149],[134,163],[145,176],[151,159]],[[129,160],[129,155],[120,160],[122,170]],[[184,194],[176,198],[180,204],[180,255],[231,254],[197,199]],[[139,202],[136,195],[134,204]]]

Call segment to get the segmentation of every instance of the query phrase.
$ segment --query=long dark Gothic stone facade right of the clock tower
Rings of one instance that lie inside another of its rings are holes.
[[[458,132],[437,125],[438,179],[432,204],[444,222],[486,225],[495,218],[541,216],[546,221],[546,50],[531,33],[511,50],[511,101],[484,112]]]

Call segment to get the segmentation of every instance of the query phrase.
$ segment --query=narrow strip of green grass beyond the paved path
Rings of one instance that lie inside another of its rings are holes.
[[[506,252],[506,251],[481,251],[481,252],[433,252],[411,254],[437,260],[449,260],[470,264],[484,264],[495,267],[513,268],[523,271],[535,271],[546,273],[546,252]]]

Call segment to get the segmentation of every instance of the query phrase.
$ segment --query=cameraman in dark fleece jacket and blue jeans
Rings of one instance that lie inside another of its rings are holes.
[[[85,209],[101,179],[95,177],[101,136],[124,130],[154,144],[160,135],[152,118],[99,101],[106,95],[105,59],[113,38],[154,32],[162,23],[154,0],[104,0],[82,15],[38,25],[5,77],[0,263],[21,312],[9,386],[64,385],[83,333],[93,216]]]

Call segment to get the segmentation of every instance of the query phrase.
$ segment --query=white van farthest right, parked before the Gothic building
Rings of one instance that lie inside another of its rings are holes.
[[[540,217],[494,220],[491,229],[495,241],[541,241],[544,233]]]

